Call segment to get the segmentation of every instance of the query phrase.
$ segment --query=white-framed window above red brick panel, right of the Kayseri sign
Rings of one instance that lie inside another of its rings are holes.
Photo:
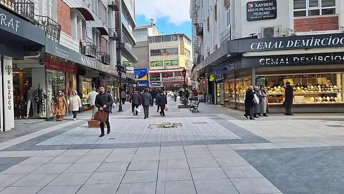
[[[336,0],[294,0],[294,17],[336,14]]]

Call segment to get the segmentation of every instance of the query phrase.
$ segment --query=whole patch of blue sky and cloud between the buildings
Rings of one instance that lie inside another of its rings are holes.
[[[191,39],[190,0],[135,0],[136,25],[150,24],[164,35],[185,34]]]

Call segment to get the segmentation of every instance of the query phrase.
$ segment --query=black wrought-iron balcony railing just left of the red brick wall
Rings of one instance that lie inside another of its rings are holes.
[[[38,17],[37,24],[45,31],[45,37],[52,39],[55,42],[60,42],[61,25],[52,18],[46,16]]]

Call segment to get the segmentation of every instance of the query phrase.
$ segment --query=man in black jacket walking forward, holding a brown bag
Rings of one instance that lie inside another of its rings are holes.
[[[99,111],[104,111],[107,113],[106,118],[106,126],[107,126],[107,134],[110,133],[110,123],[109,123],[109,113],[110,113],[110,107],[112,106],[113,101],[112,97],[109,93],[105,92],[105,89],[103,86],[99,87],[99,94],[96,96],[95,105],[97,106]],[[100,123],[101,126],[101,132],[102,134],[99,137],[104,136],[104,123]]]

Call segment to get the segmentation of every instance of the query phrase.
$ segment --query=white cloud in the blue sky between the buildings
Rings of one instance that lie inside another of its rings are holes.
[[[181,25],[190,20],[190,0],[135,0],[135,12],[147,20],[167,18],[168,22]]]

